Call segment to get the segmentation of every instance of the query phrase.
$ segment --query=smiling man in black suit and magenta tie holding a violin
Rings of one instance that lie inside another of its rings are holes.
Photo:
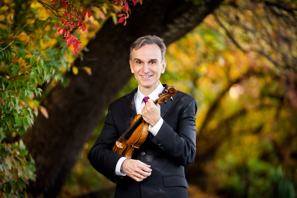
[[[129,63],[138,88],[109,105],[105,125],[89,153],[92,166],[117,183],[115,197],[188,197],[184,166],[195,160],[197,101],[177,91],[173,101],[154,104],[168,88],[159,81],[166,67],[165,51],[157,36],[141,37],[132,44]],[[145,96],[150,98],[146,104]],[[127,159],[111,148],[137,114],[149,123],[149,134]]]

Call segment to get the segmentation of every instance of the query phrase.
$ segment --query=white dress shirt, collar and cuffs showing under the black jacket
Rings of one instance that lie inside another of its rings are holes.
[[[156,100],[159,96],[158,94],[159,93],[162,93],[162,91],[164,91],[164,87],[163,85],[161,84],[161,82],[159,81],[159,85],[158,87],[153,91],[151,92],[151,94],[149,94],[149,98],[152,99],[153,101]],[[134,102],[135,102],[135,107],[136,107],[136,113],[137,114],[142,114],[142,109],[144,107],[144,102],[143,102],[143,98],[145,97],[145,95],[143,95],[141,92],[140,92],[140,89],[139,89],[139,85],[138,85],[138,90],[137,92],[135,93],[134,95]],[[157,135],[159,129],[161,128],[163,124],[163,119],[160,117],[159,121],[155,124],[155,126],[151,126],[149,125],[149,132],[151,132],[151,134],[153,134],[154,136]],[[118,163],[116,164],[116,171],[115,171],[115,174],[116,175],[123,175],[125,176],[126,174],[121,170],[121,165],[123,163],[123,161],[125,159],[128,159],[126,157],[121,157],[118,161]]]

